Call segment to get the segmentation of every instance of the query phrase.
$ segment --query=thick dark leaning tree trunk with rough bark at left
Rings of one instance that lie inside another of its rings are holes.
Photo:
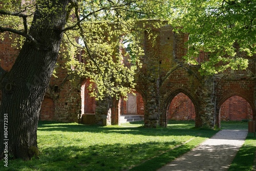
[[[9,158],[30,159],[38,151],[39,111],[55,67],[69,1],[52,2],[61,8],[50,13],[36,9],[29,34],[37,43],[27,39],[12,69],[1,79],[0,159],[6,157],[7,147]],[[49,4],[46,1],[51,9]]]

